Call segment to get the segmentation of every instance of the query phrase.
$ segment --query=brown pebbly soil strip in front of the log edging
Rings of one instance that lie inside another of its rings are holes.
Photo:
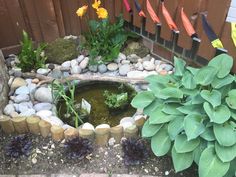
[[[63,144],[55,143],[50,138],[32,135],[33,151],[29,157],[11,159],[4,153],[5,145],[11,136],[0,130],[0,174],[52,174],[52,173],[107,173],[140,174],[158,177],[197,177],[197,169],[191,167],[181,173],[175,173],[169,157],[158,158],[150,153],[144,165],[126,167],[122,160],[120,145],[114,147],[94,147],[94,152],[84,160],[71,160],[63,152]],[[36,157],[35,157],[36,156]],[[32,161],[35,157],[37,162]],[[168,175],[167,175],[168,173]]]

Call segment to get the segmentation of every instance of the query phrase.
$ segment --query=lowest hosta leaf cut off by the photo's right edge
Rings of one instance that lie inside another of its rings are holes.
[[[221,146],[215,143],[215,151],[222,162],[230,162],[236,157],[236,144],[233,146]]]

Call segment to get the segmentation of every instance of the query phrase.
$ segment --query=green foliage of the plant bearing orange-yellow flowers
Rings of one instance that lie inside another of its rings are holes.
[[[127,38],[136,37],[133,33],[124,30],[122,17],[114,24],[111,24],[108,18],[101,21],[90,20],[88,26],[89,32],[85,34],[86,41],[83,47],[89,51],[91,64],[113,61]],[[98,56],[101,56],[101,60],[96,61],[95,58]]]

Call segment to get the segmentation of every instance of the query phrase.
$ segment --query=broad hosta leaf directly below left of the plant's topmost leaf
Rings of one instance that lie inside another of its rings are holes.
[[[210,85],[211,82],[214,80],[216,76],[217,70],[215,67],[212,66],[205,66],[197,72],[197,74],[194,76],[194,80],[197,84],[206,86]]]

